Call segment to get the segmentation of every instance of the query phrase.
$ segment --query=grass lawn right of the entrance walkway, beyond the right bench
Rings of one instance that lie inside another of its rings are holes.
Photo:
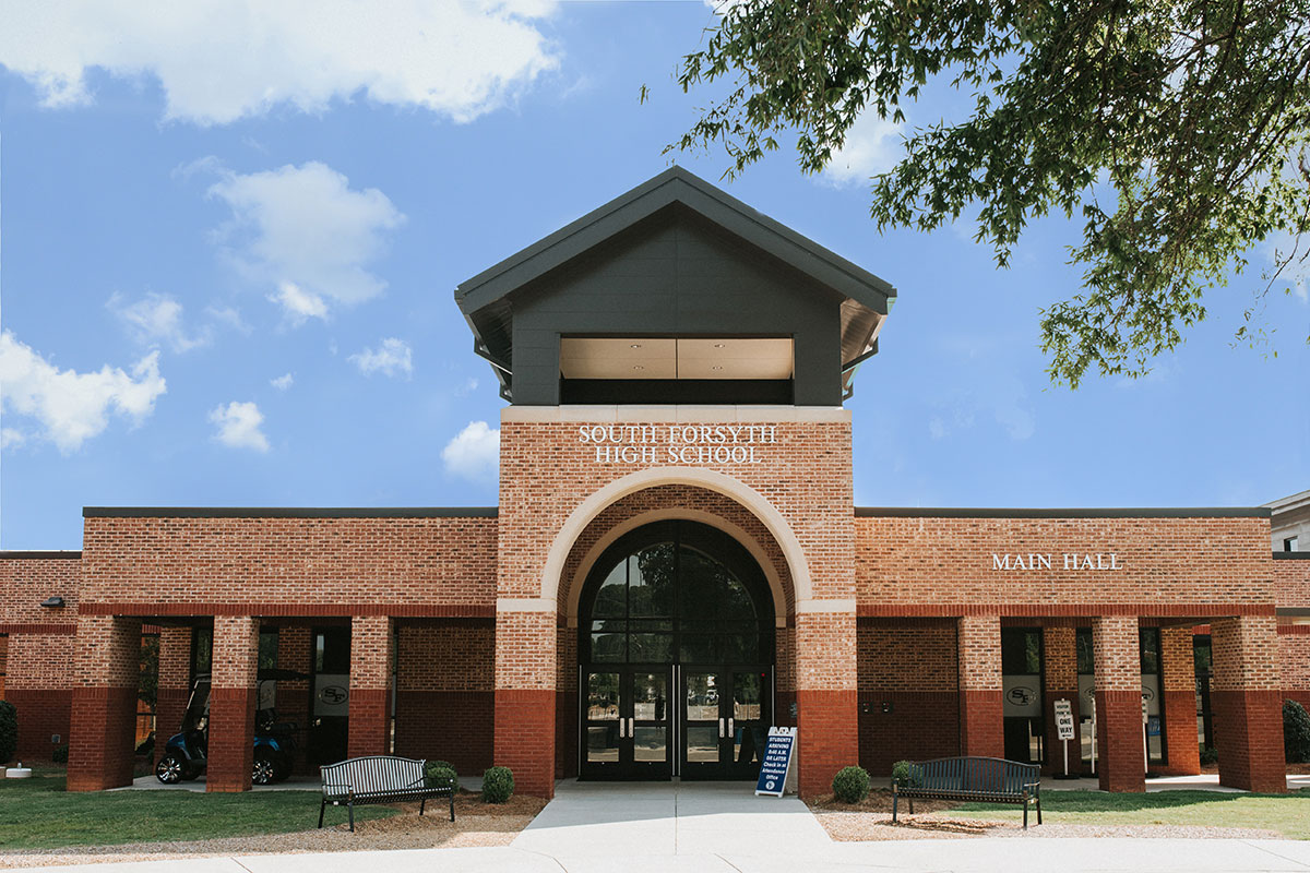
[[[971,818],[1018,821],[1019,806],[963,804],[952,809]],[[1212,791],[1165,791],[1106,794],[1095,791],[1041,792],[1041,818],[1051,825],[1193,825],[1259,827],[1292,839],[1310,839],[1310,789],[1288,794],[1233,794]],[[1028,823],[1036,817],[1030,813]]]

